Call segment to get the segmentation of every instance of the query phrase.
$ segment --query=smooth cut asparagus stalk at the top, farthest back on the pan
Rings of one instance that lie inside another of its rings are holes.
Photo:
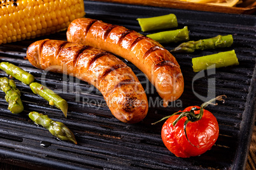
[[[178,27],[176,15],[168,14],[151,18],[137,18],[143,32]]]

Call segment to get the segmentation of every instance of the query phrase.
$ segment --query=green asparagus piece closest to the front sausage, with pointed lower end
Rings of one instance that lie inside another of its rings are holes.
[[[29,86],[32,89],[33,93],[49,101],[49,105],[54,105],[55,107],[62,110],[65,117],[67,117],[68,102],[66,100],[54,93],[51,89],[46,88],[38,82],[32,82]]]

